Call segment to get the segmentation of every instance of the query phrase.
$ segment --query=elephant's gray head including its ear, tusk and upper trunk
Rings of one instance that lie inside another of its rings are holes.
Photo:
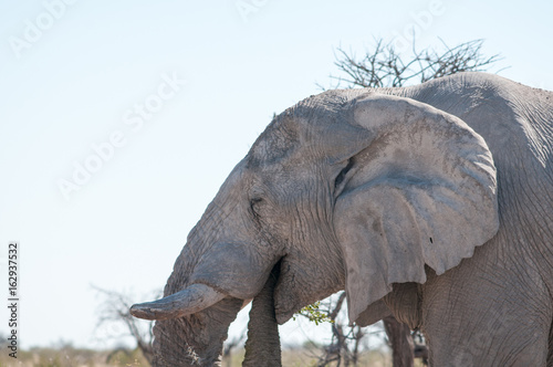
[[[363,90],[306,98],[273,119],[226,180],[159,301],[160,365],[217,364],[227,328],[280,264],[276,319],[338,290],[355,322],[393,283],[458,265],[499,226],[495,168],[461,119]]]

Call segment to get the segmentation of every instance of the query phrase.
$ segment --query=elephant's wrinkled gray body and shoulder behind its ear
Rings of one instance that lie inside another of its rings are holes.
[[[500,226],[473,256],[419,287],[418,326],[436,366],[553,366],[553,94],[491,75],[445,82],[405,96],[460,117],[487,141]],[[401,298],[392,302],[401,307]]]

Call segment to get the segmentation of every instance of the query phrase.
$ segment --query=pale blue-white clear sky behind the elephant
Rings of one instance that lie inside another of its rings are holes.
[[[553,88],[551,1],[61,1],[0,0],[0,295],[17,240],[23,347],[105,346],[91,284],[160,289],[273,113],[331,85],[337,46],[418,24],[420,49],[486,39],[500,75]]]

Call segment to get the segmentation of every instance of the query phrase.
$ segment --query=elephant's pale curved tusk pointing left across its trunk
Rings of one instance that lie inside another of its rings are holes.
[[[161,300],[138,303],[131,314],[145,319],[177,318],[195,314],[225,298],[226,295],[205,284],[192,284]]]

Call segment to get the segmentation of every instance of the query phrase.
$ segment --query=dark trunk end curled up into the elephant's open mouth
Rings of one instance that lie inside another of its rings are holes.
[[[279,324],[274,315],[274,285],[279,279],[276,264],[261,292],[253,298],[248,323],[244,367],[281,367]]]

